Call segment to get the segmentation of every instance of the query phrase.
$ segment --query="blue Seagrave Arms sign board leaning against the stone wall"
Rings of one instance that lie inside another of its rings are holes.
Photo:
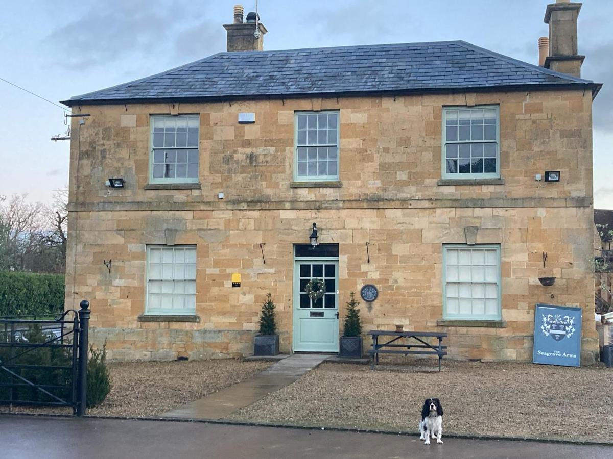
[[[581,365],[581,308],[537,304],[532,362],[545,365]]]

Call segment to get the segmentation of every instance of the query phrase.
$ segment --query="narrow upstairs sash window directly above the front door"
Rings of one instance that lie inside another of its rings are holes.
[[[295,125],[295,179],[338,180],[338,111],[299,112]]]

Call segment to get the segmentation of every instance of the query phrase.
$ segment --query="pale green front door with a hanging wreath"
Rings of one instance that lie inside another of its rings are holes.
[[[326,294],[312,300],[305,288],[324,279]],[[338,352],[338,259],[301,258],[294,262],[294,351]]]

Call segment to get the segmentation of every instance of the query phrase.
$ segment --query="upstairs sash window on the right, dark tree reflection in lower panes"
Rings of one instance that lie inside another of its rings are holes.
[[[497,105],[443,108],[443,178],[500,177]]]

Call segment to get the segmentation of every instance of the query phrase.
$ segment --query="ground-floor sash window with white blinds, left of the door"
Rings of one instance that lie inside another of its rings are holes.
[[[196,246],[147,246],[148,314],[196,313]]]

